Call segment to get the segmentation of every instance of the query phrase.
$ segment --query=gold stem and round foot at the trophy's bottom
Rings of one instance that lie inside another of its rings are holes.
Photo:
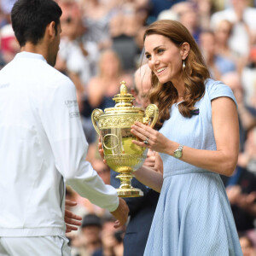
[[[122,172],[117,176],[121,185],[117,190],[119,197],[139,197],[143,196],[143,190],[131,186],[131,178],[134,177],[131,172]]]

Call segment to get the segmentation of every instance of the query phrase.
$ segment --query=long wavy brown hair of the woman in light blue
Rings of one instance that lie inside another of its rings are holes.
[[[169,38],[177,47],[187,42],[190,46],[189,55],[183,68],[183,81],[185,91],[183,102],[178,104],[179,112],[190,118],[194,110],[195,102],[198,102],[205,92],[205,80],[210,78],[207,65],[201,55],[201,51],[195,43],[188,29],[176,20],[157,20],[148,26],[144,33],[144,41],[149,35],[162,35]],[[150,90],[150,102],[157,104],[160,116],[156,124],[159,129],[166,119],[170,118],[169,109],[177,102],[177,90],[172,82],[160,84],[156,75],[152,72],[152,90]]]

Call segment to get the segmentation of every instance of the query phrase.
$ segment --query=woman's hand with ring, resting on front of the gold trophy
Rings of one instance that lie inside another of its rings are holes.
[[[167,153],[168,143],[170,143],[170,141],[159,131],[155,131],[148,125],[135,122],[135,124],[131,126],[131,133],[142,140],[142,142],[133,140],[132,143],[144,148],[151,148],[156,152]]]

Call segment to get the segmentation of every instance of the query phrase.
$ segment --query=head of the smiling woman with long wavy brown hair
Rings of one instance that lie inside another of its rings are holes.
[[[194,38],[181,23],[160,20],[148,27],[144,46],[153,71],[151,101],[159,102],[158,125],[170,117],[168,109],[180,99],[180,112],[191,117],[195,102],[204,94],[204,81],[210,77]]]

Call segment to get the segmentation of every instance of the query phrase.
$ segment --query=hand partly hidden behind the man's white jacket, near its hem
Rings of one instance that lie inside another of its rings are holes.
[[[66,233],[73,230],[78,230],[78,227],[82,224],[82,217],[74,214],[73,212],[67,210],[67,207],[75,207],[77,203],[75,201],[66,200],[65,201],[65,223],[66,223]]]

